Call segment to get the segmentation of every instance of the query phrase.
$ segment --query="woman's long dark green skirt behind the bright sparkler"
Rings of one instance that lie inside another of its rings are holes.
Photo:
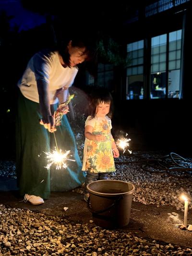
[[[52,105],[57,109],[57,104]],[[84,183],[84,172],[79,158],[75,138],[66,115],[62,117],[57,131],[49,133],[44,125],[39,124],[41,114],[39,103],[31,101],[19,92],[18,115],[16,120],[16,171],[17,185],[20,195],[37,195],[44,199],[50,191],[70,191]],[[55,140],[56,139],[56,140]],[[52,164],[50,169],[45,152],[58,149],[65,153],[70,150],[67,168],[56,169]]]

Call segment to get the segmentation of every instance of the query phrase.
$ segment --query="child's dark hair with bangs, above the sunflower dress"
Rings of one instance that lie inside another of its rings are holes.
[[[96,107],[101,102],[110,103],[110,110],[107,114],[109,118],[112,117],[113,112],[113,98],[110,92],[103,87],[95,88],[90,94],[90,108],[89,108],[89,115],[94,118],[96,116]]]

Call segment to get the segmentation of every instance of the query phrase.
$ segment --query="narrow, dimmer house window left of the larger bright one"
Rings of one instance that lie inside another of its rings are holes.
[[[144,94],[144,40],[127,45],[126,99],[143,99]]]

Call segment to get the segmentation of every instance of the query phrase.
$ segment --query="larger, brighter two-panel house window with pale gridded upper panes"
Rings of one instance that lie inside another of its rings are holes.
[[[150,98],[179,98],[181,30],[151,38]]]

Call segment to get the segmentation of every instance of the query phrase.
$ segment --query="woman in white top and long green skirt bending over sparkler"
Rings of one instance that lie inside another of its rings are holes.
[[[16,169],[20,195],[25,202],[43,204],[50,191],[68,191],[84,183],[81,160],[65,115],[68,106],[62,109],[60,126],[55,127],[53,115],[58,103],[68,98],[78,64],[87,61],[90,55],[89,45],[73,38],[62,49],[36,53],[18,82]],[[62,152],[71,151],[75,161],[68,161],[66,169],[56,170],[53,165],[45,168],[48,163],[44,152],[51,152],[55,146]]]

